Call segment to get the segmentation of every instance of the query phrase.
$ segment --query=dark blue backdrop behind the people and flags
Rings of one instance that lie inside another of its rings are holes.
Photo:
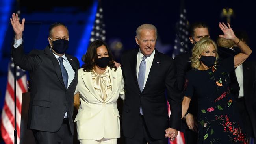
[[[83,4],[82,4],[83,3]],[[89,37],[95,19],[98,1],[71,0],[69,2],[53,0],[20,1],[21,18],[26,18],[24,31],[25,51],[32,48],[43,49],[48,44],[48,27],[53,22],[63,22],[69,28],[69,50],[67,53],[81,59],[85,54]],[[29,7],[30,6],[30,7]],[[234,10],[231,18],[233,30],[243,30],[249,35],[249,46],[252,55],[249,60],[255,60],[254,40],[256,39],[255,5],[253,1],[221,1],[221,0],[186,0],[187,19],[190,23],[205,21],[210,26],[212,39],[221,34],[218,23],[226,22],[221,18],[223,8]],[[160,51],[171,54],[175,30],[174,26],[180,15],[180,1],[160,0],[102,0],[104,23],[106,25],[106,42],[122,43],[122,50],[137,48],[135,30],[143,23],[154,24],[158,28],[158,44]],[[15,0],[0,2],[0,109],[4,102],[7,83],[7,64],[10,59],[10,46],[13,41],[13,31],[9,18],[17,11]],[[117,56],[118,58],[118,56]],[[118,59],[117,59],[118,61]],[[82,61],[81,65],[82,65]]]

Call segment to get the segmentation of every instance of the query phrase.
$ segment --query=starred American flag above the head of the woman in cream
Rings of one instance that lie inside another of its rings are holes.
[[[91,31],[90,42],[93,42],[97,39],[105,41],[106,39],[105,33],[106,31],[105,31],[105,24],[103,22],[103,9],[101,6],[101,1],[99,1],[93,30]]]

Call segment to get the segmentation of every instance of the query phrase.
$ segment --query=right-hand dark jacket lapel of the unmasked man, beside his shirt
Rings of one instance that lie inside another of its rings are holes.
[[[142,90],[142,92],[144,92],[145,89],[147,89],[148,83],[150,83],[153,80],[152,78],[154,76],[157,76],[156,72],[159,72],[160,64],[161,64],[161,62],[160,62],[160,59],[158,57],[158,51],[155,49],[154,59],[152,61],[152,65],[151,65],[150,71],[148,73],[148,78],[147,78],[145,87]]]

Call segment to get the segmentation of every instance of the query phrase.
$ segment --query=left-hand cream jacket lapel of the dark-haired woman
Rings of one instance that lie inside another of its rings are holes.
[[[85,83],[85,87],[88,89],[88,91],[91,92],[91,94],[97,100],[103,103],[102,98],[93,87],[93,78],[91,77],[91,72],[83,72],[81,76],[82,76],[83,82]]]

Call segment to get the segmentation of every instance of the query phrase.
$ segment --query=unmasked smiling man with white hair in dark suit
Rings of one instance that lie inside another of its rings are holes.
[[[173,59],[155,49],[157,29],[143,24],[136,30],[139,50],[122,55],[125,100],[122,125],[126,144],[167,144],[178,135],[181,93],[176,88]],[[167,97],[165,96],[167,90]],[[167,101],[171,105],[170,120]]]

